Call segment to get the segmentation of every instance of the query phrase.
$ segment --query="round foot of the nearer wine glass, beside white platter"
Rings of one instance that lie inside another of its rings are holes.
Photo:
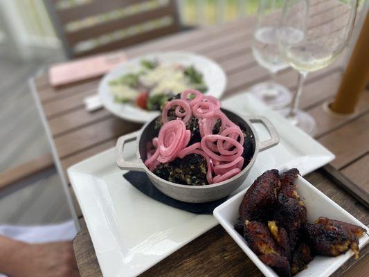
[[[286,109],[281,109],[279,112],[280,114],[285,116],[285,118],[289,121],[289,123],[291,123],[292,125],[295,125],[296,127],[299,127],[300,129],[302,129],[305,133],[309,134],[310,136],[314,136],[316,134],[316,131],[317,131],[316,121],[314,120],[312,116],[307,114],[307,112],[298,109],[296,111],[296,116],[289,117],[288,116],[289,111],[290,109],[286,108]]]

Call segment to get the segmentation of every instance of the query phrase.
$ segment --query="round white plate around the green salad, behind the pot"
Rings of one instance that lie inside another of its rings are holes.
[[[99,87],[98,95],[102,105],[112,114],[125,120],[134,121],[137,123],[145,123],[159,114],[159,111],[147,111],[136,107],[132,104],[123,104],[114,101],[109,87],[109,81],[119,78],[127,73],[138,72],[141,69],[141,60],[159,60],[163,64],[181,64],[183,66],[194,66],[197,71],[202,73],[204,82],[208,87],[205,94],[220,98],[226,88],[226,74],[213,60],[201,55],[195,55],[189,52],[165,52],[152,53],[135,57],[132,60],[123,62],[111,70],[104,78],[102,78]]]

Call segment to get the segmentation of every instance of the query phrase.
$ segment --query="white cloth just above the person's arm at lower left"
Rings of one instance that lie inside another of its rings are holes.
[[[28,243],[63,242],[73,240],[76,234],[73,220],[43,226],[0,225],[0,235]]]

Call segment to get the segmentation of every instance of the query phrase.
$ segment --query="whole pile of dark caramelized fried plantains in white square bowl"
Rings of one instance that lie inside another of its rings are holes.
[[[291,276],[307,268],[313,256],[339,256],[352,249],[359,257],[359,237],[366,229],[339,220],[319,217],[307,222],[307,211],[294,180],[296,168],[278,175],[264,172],[247,190],[240,204],[235,229],[249,247],[279,276]],[[267,223],[267,225],[266,225]]]

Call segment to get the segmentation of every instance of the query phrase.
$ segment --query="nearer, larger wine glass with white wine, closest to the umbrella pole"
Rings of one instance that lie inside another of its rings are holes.
[[[332,8],[322,8],[328,3],[332,3]],[[291,107],[281,113],[311,136],[316,134],[316,122],[298,109],[303,82],[307,73],[331,64],[348,44],[357,6],[357,0],[285,0],[278,28],[278,48],[283,59],[298,71],[299,77]],[[303,39],[286,39],[290,28],[300,30]]]

